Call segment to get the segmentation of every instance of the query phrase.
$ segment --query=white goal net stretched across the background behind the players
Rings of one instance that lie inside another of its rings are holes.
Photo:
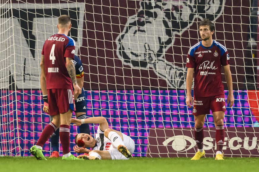
[[[62,14],[71,17],[69,36],[84,67],[86,115],[104,116],[134,140],[133,156],[147,157],[190,157],[197,149],[185,64],[199,41],[198,22],[212,20],[214,39],[228,49],[235,98],[233,108],[226,105],[224,155],[259,155],[258,0],[0,0],[0,155],[30,156],[50,122],[39,63]],[[97,127],[90,124],[91,134]],[[70,132],[72,151],[79,129],[71,125]],[[211,114],[204,134],[213,156]],[[50,142],[44,150],[49,156]]]

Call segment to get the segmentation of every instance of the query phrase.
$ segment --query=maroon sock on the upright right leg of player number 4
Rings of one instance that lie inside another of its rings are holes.
[[[61,146],[63,148],[63,155],[70,152],[69,146],[70,146],[70,130],[69,125],[60,125],[59,128],[59,138],[61,142]]]

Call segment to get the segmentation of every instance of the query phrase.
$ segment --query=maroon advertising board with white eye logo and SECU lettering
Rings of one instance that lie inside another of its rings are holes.
[[[146,157],[193,157],[197,151],[194,128],[150,128]],[[223,152],[228,157],[259,157],[258,127],[228,127]],[[205,157],[216,153],[215,129],[204,128]]]

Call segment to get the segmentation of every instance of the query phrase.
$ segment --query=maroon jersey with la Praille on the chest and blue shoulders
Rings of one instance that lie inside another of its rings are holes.
[[[229,62],[227,49],[215,40],[209,48],[201,42],[192,46],[187,55],[186,67],[194,68],[194,96],[224,94],[220,68]]]

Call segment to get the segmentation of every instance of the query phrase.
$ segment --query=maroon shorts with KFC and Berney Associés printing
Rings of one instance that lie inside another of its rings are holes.
[[[227,99],[226,99],[227,100]],[[193,115],[206,115],[213,112],[226,111],[225,95],[193,98]]]

